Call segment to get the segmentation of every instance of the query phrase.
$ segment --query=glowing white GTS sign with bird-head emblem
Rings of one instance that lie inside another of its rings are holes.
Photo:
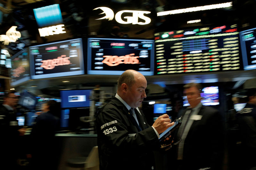
[[[98,7],[93,10],[101,9],[103,12],[100,14],[106,14],[106,16],[99,18],[99,19],[108,19],[109,21],[113,20],[114,18],[114,12],[108,8],[108,7]],[[128,13],[130,16],[125,16],[124,19],[122,19],[122,14],[123,13]],[[133,10],[124,10],[124,11],[119,11],[115,15],[116,22],[120,24],[138,24],[138,25],[146,25],[151,22],[151,19],[144,16],[144,14],[149,14],[151,13],[150,11],[133,11]],[[132,16],[131,16],[132,15]],[[139,22],[138,19],[143,19],[145,22]],[[96,19],[97,20],[97,19]]]

